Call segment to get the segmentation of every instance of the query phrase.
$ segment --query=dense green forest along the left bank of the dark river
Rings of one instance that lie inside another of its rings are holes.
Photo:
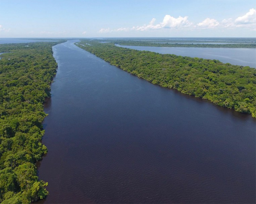
[[[30,204],[47,195],[35,162],[47,148],[41,143],[57,63],[52,46],[59,42],[2,44],[0,53],[0,202]]]

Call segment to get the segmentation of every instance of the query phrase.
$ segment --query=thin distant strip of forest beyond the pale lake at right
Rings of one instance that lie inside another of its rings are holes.
[[[256,48],[256,44],[246,43],[228,43],[228,44],[197,44],[196,42],[184,44],[184,43],[159,43],[144,40],[109,40],[119,45],[131,45],[131,46],[150,46],[150,47],[226,47],[226,48]],[[209,42],[208,42],[209,43]]]

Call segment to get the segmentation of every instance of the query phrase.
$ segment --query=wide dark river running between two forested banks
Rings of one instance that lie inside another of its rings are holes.
[[[42,204],[255,204],[256,120],[53,47]]]

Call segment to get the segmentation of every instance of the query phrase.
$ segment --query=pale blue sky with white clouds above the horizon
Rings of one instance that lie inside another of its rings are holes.
[[[256,1],[1,0],[6,37],[256,37]]]

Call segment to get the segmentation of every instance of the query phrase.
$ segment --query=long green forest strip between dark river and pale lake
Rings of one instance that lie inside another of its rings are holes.
[[[256,69],[81,40],[77,46],[153,84],[256,117]]]

